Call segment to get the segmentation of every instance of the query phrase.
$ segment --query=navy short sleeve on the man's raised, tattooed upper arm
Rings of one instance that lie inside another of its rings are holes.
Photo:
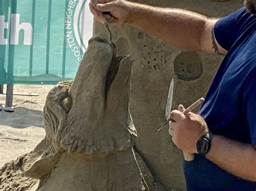
[[[251,14],[245,7],[217,21],[214,26],[214,36],[221,47],[230,50],[235,41],[245,30],[246,20]]]

